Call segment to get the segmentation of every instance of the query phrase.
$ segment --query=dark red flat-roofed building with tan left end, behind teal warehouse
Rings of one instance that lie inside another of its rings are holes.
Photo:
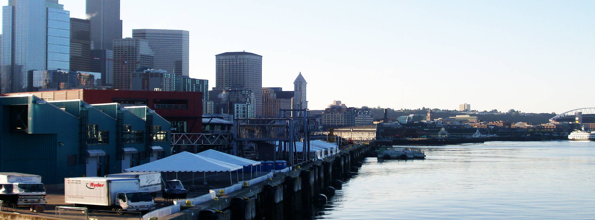
[[[46,101],[79,99],[89,104],[148,106],[171,123],[174,132],[202,133],[202,93],[136,90],[58,90],[32,93]]]

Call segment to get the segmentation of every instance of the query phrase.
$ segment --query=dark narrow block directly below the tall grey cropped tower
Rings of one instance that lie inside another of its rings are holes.
[[[114,51],[91,50],[90,56],[90,71],[100,72],[101,84],[112,86],[114,84]]]

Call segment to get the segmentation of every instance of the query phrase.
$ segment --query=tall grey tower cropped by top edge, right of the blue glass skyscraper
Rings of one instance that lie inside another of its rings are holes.
[[[113,41],[122,39],[120,0],[87,0],[87,19],[91,25],[94,50],[113,50]]]

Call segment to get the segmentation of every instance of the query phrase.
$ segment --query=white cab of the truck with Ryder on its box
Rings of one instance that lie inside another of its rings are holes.
[[[115,198],[115,205],[120,206],[115,208],[115,211],[118,211],[120,215],[123,215],[123,211],[151,211],[155,209],[154,204],[153,196],[149,192],[123,192],[118,193]]]

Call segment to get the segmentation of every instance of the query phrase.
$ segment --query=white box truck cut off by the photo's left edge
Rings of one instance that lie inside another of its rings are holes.
[[[18,193],[17,205],[45,205],[45,186],[41,176],[24,173],[0,173],[0,182],[12,183],[23,192]]]

